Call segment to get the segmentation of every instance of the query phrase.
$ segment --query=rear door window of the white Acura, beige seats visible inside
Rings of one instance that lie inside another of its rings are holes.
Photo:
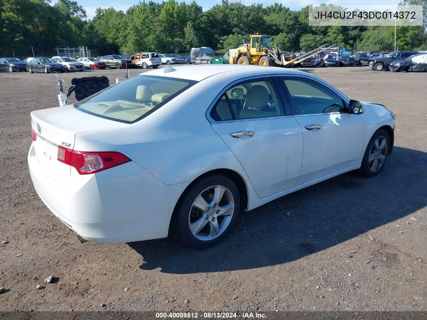
[[[283,109],[277,97],[271,78],[244,81],[225,92],[210,116],[215,121],[282,116]]]

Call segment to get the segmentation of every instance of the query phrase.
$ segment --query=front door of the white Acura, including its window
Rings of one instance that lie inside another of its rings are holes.
[[[348,113],[348,98],[324,82],[280,76],[292,113],[303,130],[303,162],[297,184],[360,164],[365,124]]]

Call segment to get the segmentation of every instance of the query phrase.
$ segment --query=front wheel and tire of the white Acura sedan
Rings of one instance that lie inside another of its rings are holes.
[[[373,135],[366,147],[359,173],[371,177],[384,168],[390,155],[390,136],[384,129],[379,129]]]

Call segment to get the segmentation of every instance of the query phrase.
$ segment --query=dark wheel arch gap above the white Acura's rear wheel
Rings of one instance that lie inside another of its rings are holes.
[[[182,199],[189,192],[189,190],[191,190],[191,188],[201,179],[206,178],[206,177],[211,176],[211,175],[216,175],[216,174],[224,175],[224,176],[230,178],[236,184],[236,187],[239,190],[241,208],[248,209],[249,193],[248,193],[248,186],[246,185],[245,179],[238,172],[231,170],[231,169],[225,169],[225,168],[213,169],[213,170],[207,171],[207,172],[199,175],[196,179],[194,179],[185,188],[185,190],[182,192],[181,196],[178,198],[178,201],[176,202],[175,207],[173,209],[172,219],[171,219],[172,221],[176,217],[177,208],[179,207]],[[169,225],[169,228],[170,228],[170,225]]]

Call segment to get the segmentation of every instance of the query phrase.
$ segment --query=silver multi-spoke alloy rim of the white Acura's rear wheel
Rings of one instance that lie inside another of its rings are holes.
[[[234,198],[224,186],[212,186],[202,191],[188,214],[188,227],[193,236],[210,241],[227,229],[234,214]]]

